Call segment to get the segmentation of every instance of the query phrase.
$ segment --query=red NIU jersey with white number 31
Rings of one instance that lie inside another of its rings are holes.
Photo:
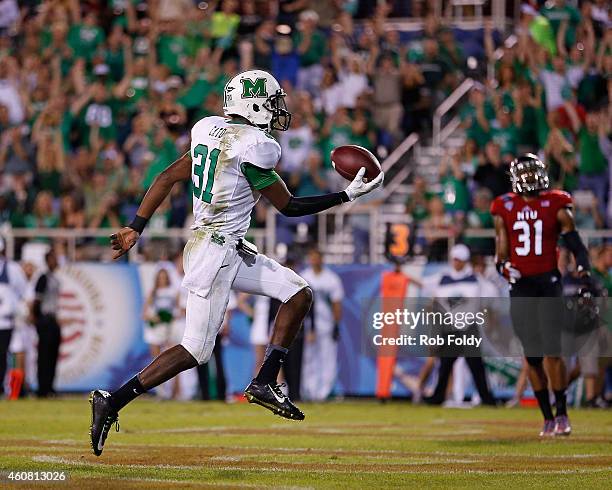
[[[526,200],[510,192],[497,197],[491,214],[501,216],[510,239],[510,262],[523,276],[534,276],[557,268],[559,209],[572,205],[564,191],[541,192]]]

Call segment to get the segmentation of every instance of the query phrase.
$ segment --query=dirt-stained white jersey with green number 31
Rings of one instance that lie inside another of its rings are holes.
[[[199,120],[191,130],[193,228],[244,237],[259,200],[242,164],[273,169],[281,148],[264,130],[219,116]]]

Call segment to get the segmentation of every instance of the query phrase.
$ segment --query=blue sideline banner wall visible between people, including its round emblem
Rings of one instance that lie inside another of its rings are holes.
[[[57,380],[60,391],[88,391],[99,386],[112,389],[149,362],[141,312],[144,294],[150,289],[160,266],[163,263],[140,266],[72,263],[60,269],[60,317],[64,324]],[[407,266],[405,270],[418,279],[441,267],[444,264],[430,263]],[[362,352],[363,319],[360,316],[367,308],[364,298],[379,296],[381,272],[389,267],[354,264],[331,268],[340,275],[346,293],[335,393],[373,396],[376,360]],[[415,294],[412,289],[408,292],[409,296]],[[97,335],[102,330],[103,337]],[[252,375],[253,353],[249,343],[249,320],[239,311],[232,316],[224,352],[228,392],[240,392]],[[420,358],[401,359],[398,368],[404,375],[415,377],[422,362]],[[519,359],[491,359],[489,368],[496,395],[511,394],[520,368]],[[28,371],[29,381],[35,386],[35,376],[31,377],[35,369]],[[392,394],[407,396],[409,391],[402,383],[394,382]]]

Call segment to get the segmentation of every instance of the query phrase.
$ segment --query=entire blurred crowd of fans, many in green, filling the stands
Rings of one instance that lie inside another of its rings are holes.
[[[466,37],[417,1],[0,0],[0,228],[129,221],[188,149],[191,126],[221,113],[226,81],[253,67],[289,94],[292,127],[275,136],[296,195],[337,190],[334,147],[384,158],[406,135],[429,135],[433,110],[466,76],[482,81],[460,109],[465,143],[442,151],[435,182],[415,178],[407,202],[416,251],[431,259],[446,257],[440,236],[492,227],[489,204],[525,151],[574,193],[581,229],[605,227],[612,29],[605,0],[578,3],[525,3],[504,40],[488,24]],[[420,30],[396,30],[397,15],[418,16]],[[188,183],[176,186],[150,226],[188,226],[190,196]],[[265,216],[262,201],[253,225]],[[279,227],[285,243],[299,231],[282,218]],[[491,252],[491,240],[470,240]],[[90,243],[101,242],[79,250]]]

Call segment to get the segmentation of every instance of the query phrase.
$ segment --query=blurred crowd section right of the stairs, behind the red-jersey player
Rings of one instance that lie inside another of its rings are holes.
[[[606,1],[551,0],[521,6],[514,35],[497,40],[485,27],[494,78],[476,83],[460,109],[465,142],[445,150],[437,186],[421,177],[407,212],[424,231],[422,246],[443,260],[446,240],[465,228],[491,229],[492,199],[510,190],[515,155],[538,154],[551,186],[571,192],[578,228],[612,223],[612,20]],[[485,254],[492,240],[465,240]]]

